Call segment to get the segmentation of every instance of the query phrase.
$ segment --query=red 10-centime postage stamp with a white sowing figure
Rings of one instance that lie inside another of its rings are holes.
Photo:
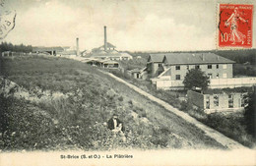
[[[252,47],[253,5],[220,4],[219,47]]]

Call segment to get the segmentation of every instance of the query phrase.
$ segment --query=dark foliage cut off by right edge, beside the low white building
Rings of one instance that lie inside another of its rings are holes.
[[[249,94],[248,97],[248,105],[245,107],[244,112],[244,120],[246,125],[246,131],[248,134],[252,135],[254,138],[256,138],[256,91],[254,91]]]

